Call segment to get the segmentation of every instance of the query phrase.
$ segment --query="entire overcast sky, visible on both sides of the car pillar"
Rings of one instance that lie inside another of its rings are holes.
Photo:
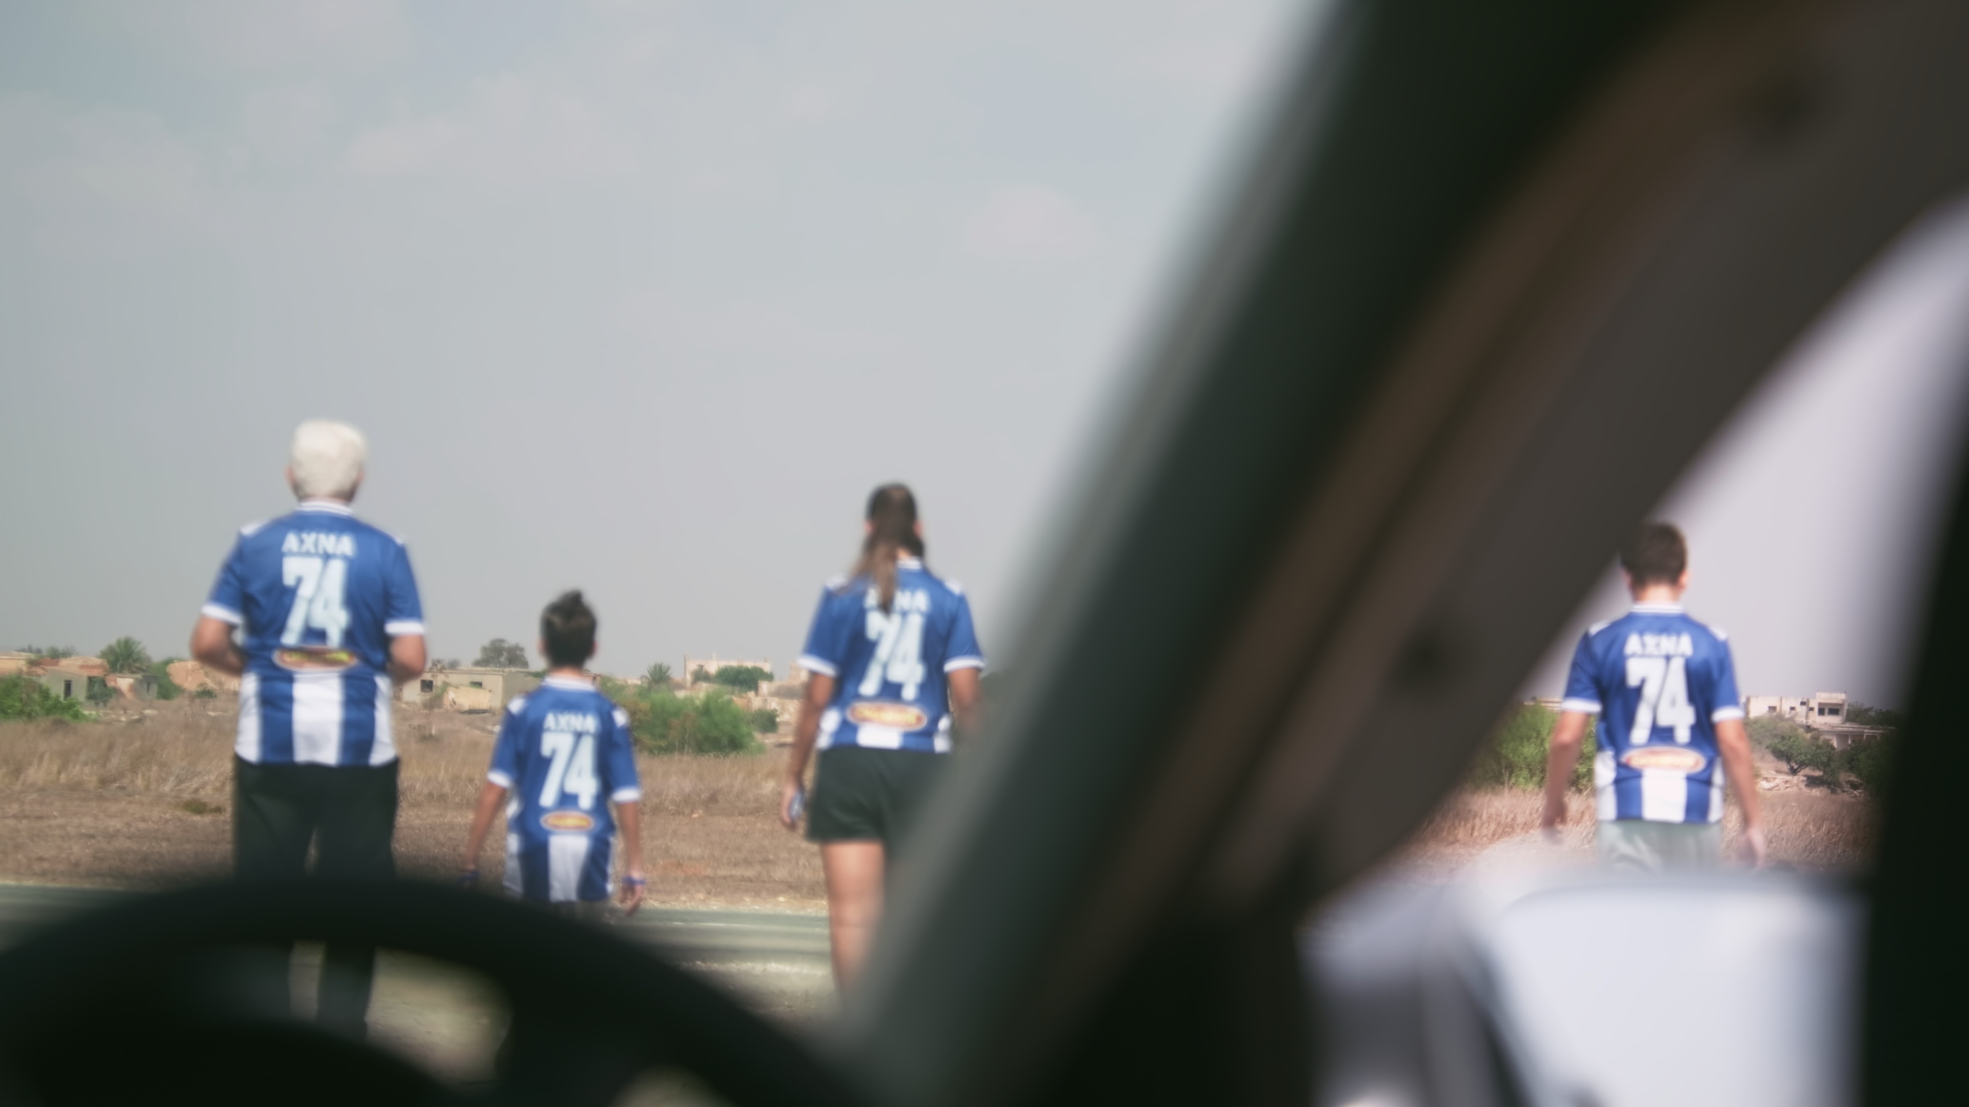
[[[183,652],[311,416],[368,431],[439,656],[579,585],[604,672],[784,672],[890,479],[998,646],[1309,12],[0,6],[0,648]],[[1969,317],[1926,240],[1664,504],[1745,691],[1898,701]]]

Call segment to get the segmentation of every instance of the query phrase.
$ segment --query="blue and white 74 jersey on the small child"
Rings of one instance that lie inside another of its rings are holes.
[[[500,717],[486,780],[506,788],[506,890],[606,900],[614,815],[642,800],[628,715],[585,680],[549,676]]]

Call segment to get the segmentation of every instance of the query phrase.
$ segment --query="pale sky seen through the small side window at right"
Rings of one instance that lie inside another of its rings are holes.
[[[1969,402],[1969,203],[1910,227],[1780,360],[1656,510],[1689,540],[1689,615],[1745,695],[1906,705],[1910,648]],[[1628,605],[1609,563],[1534,672]]]

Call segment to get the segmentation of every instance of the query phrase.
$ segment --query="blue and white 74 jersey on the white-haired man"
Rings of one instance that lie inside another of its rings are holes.
[[[234,743],[254,764],[390,764],[390,638],[423,634],[404,540],[305,500],[240,530],[205,615],[240,628]]]

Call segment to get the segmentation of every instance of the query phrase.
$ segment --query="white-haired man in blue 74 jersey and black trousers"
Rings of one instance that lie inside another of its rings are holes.
[[[287,485],[299,504],[240,528],[191,632],[199,662],[240,678],[232,863],[242,880],[301,879],[311,843],[317,877],[394,875],[390,701],[423,672],[423,607],[404,540],[349,508],[366,453],[349,423],[295,427]],[[323,1024],[364,1032],[374,959],[374,949],[325,951]]]

